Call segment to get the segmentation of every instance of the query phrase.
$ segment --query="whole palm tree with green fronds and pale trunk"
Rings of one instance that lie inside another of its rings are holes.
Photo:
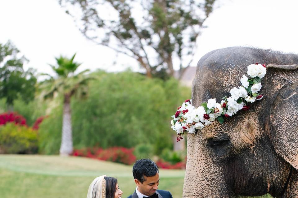
[[[60,155],[63,156],[68,156],[73,151],[70,99],[72,96],[86,96],[87,82],[91,79],[84,75],[88,70],[75,75],[75,71],[81,64],[74,62],[74,58],[75,54],[70,59],[63,56],[56,58],[57,65],[50,66],[56,72],[57,77],[55,78],[45,74],[50,76],[50,79],[45,80],[39,86],[44,99],[53,98],[55,93],[63,96],[62,139],[60,147]]]

